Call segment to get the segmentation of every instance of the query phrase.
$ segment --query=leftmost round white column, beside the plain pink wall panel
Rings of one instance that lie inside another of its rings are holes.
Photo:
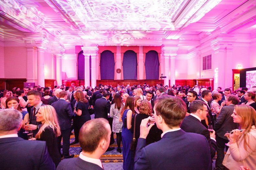
[[[44,87],[44,48],[37,47],[37,85]]]

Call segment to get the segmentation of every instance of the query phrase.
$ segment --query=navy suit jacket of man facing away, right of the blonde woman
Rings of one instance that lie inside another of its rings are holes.
[[[73,116],[71,104],[63,99],[59,99],[52,106],[56,110],[60,129],[66,130],[71,128],[71,119]]]

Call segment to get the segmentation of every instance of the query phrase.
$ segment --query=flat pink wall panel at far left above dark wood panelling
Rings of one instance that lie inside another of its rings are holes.
[[[4,47],[5,78],[27,78],[27,48]]]

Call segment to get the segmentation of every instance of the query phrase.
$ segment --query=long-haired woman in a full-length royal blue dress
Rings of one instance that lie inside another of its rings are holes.
[[[126,99],[125,105],[120,112],[119,121],[123,122],[122,127],[122,144],[123,144],[123,169],[133,170],[134,158],[130,150],[133,134],[131,132],[132,118],[134,116],[134,97],[129,96]]]

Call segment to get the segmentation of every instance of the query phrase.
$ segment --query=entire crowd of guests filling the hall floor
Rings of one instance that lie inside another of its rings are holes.
[[[145,83],[2,92],[4,169],[102,169],[99,158],[114,149],[124,170],[212,169],[216,152],[216,170],[256,169],[256,87]],[[114,133],[117,148],[110,147]],[[79,158],[68,159],[76,143]]]

